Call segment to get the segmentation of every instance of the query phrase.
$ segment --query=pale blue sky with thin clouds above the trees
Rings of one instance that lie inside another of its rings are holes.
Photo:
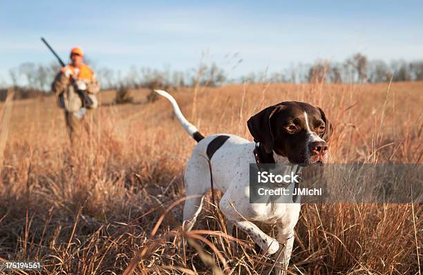
[[[355,52],[412,61],[423,59],[423,1],[0,1],[0,83],[20,63],[54,60],[40,37],[63,59],[79,46],[122,73],[189,70],[202,54],[233,77]]]

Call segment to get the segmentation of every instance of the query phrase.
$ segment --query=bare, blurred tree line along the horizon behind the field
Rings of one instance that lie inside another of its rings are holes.
[[[242,59],[236,61],[237,65]],[[380,83],[387,81],[422,81],[423,61],[369,60],[366,55],[357,53],[342,62],[319,60],[313,64],[291,65],[279,72],[252,72],[236,79],[216,63],[200,64],[191,70],[179,71],[165,68],[137,68],[132,66],[125,75],[111,68],[97,68],[95,62],[86,59],[91,65],[103,90],[118,88],[180,88],[200,86],[218,86],[226,83]],[[26,62],[9,70],[12,87],[18,98],[32,97],[50,92],[50,85],[59,65],[51,62],[47,65]],[[4,89],[3,89],[4,90]],[[4,97],[0,93],[0,100]]]

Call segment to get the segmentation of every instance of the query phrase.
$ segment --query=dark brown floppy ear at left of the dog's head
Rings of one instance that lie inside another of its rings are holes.
[[[270,154],[274,147],[274,136],[272,134],[272,127],[270,119],[278,110],[278,105],[273,105],[261,110],[261,112],[254,114],[247,121],[248,130],[254,137],[254,141],[263,143],[267,154]]]

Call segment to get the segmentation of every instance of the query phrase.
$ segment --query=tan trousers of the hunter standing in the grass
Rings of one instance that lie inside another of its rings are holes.
[[[90,110],[87,110],[86,114],[81,119],[77,119],[73,112],[68,112],[66,110],[64,111],[64,116],[69,139],[72,144],[75,144],[78,139],[81,139],[84,132],[89,134],[92,121],[92,112]]]

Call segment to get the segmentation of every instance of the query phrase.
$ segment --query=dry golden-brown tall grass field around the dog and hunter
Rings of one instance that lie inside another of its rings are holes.
[[[203,134],[252,140],[247,119],[280,101],[325,110],[330,163],[422,163],[423,83],[256,84],[170,90]],[[42,261],[31,274],[269,274],[273,261],[208,205],[180,229],[183,172],[195,142],[169,102],[111,105],[102,92],[88,132],[71,148],[53,97],[15,101],[1,171],[0,261]],[[0,114],[3,111],[0,105]],[[169,207],[169,211],[167,211]],[[171,209],[170,209],[171,208]],[[290,274],[421,274],[422,205],[307,204]],[[203,230],[203,231],[202,231]],[[222,234],[220,234],[222,232]],[[273,234],[273,229],[268,232]],[[180,245],[187,239],[190,245]],[[29,274],[20,272],[17,274]]]

